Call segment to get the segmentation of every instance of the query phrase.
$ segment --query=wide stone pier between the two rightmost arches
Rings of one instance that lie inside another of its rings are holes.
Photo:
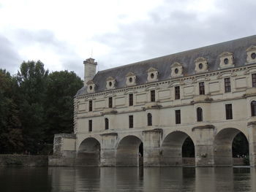
[[[214,126],[196,126],[195,134],[195,166],[214,166]]]

